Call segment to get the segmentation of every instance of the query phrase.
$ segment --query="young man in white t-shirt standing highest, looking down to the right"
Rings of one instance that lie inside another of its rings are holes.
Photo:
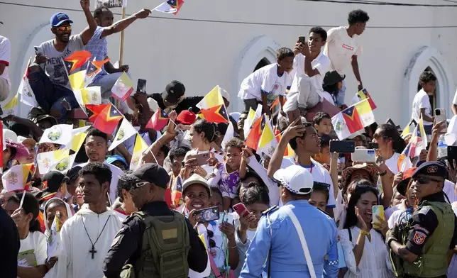
[[[358,55],[362,54],[360,35],[369,20],[370,16],[365,11],[351,11],[348,16],[348,26],[331,28],[327,32],[327,44],[324,49],[324,54],[330,58],[332,70],[336,70],[341,77],[345,75],[346,67],[351,63],[359,90],[363,89],[357,60]],[[336,96],[336,105],[344,104],[345,91],[346,87],[343,83],[343,88]]]

